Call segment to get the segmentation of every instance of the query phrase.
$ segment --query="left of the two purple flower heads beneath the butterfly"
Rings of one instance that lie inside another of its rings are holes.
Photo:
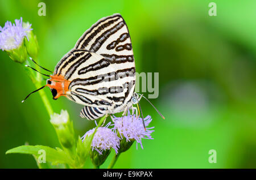
[[[98,127],[96,133],[92,140],[92,150],[95,149],[100,155],[102,151],[106,149],[113,148],[115,153],[118,153],[118,148],[120,145],[120,138],[115,134],[110,128],[110,122],[105,127]],[[82,136],[82,142],[84,142],[86,136],[90,136],[95,131],[95,128],[89,130]]]

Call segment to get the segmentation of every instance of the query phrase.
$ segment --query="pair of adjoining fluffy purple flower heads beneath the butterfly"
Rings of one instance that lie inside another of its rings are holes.
[[[154,127],[146,127],[145,131],[142,118],[131,115],[130,112],[127,114],[127,116],[114,117],[113,119],[114,125],[111,125],[109,122],[105,127],[98,128],[92,141],[92,150],[95,149],[100,154],[102,154],[102,151],[110,148],[113,148],[115,153],[123,152],[130,148],[130,145],[134,140],[137,142],[137,144],[141,144],[143,149],[142,139],[153,139],[151,133],[154,132],[154,130],[151,129]],[[152,119],[150,115],[144,118],[145,126],[148,126],[151,121]],[[114,127],[108,128],[109,126]],[[93,134],[94,130],[95,128],[86,132],[85,135],[82,136],[82,140],[84,140],[86,136]],[[129,142],[131,143],[127,146],[126,143]],[[124,146],[128,148],[125,148],[124,150]],[[119,151],[119,148],[122,150]]]

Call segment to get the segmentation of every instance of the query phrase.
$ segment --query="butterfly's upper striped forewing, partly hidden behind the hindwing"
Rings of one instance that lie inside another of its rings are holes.
[[[127,76],[122,82],[116,82],[115,86],[129,87],[128,91],[119,96],[122,97],[119,100],[123,104],[131,100],[135,88],[135,62],[129,30],[120,14],[98,20],[80,37],[75,49],[86,49],[102,55],[119,72],[119,79]],[[129,75],[127,72],[134,74]]]

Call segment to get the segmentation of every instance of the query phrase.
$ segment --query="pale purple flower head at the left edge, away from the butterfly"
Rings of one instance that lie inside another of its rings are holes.
[[[27,33],[31,30],[31,24],[22,27],[22,18],[15,19],[15,24],[7,21],[5,27],[0,27],[0,49],[17,49],[22,44],[24,36],[27,37]]]

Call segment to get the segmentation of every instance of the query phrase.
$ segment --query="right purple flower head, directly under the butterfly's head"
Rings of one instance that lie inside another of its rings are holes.
[[[151,121],[150,115],[147,115],[147,117],[144,118],[145,126],[148,126]],[[135,114],[130,115],[130,112],[128,112],[127,116],[114,117],[114,122],[114,130],[118,130],[121,138],[123,138],[122,136],[126,138],[126,142],[136,140],[137,149],[138,143],[141,144],[141,148],[143,149],[142,139],[153,139],[151,133],[154,132],[154,130],[151,129],[154,127],[146,127],[145,131],[142,118],[136,118]]]

